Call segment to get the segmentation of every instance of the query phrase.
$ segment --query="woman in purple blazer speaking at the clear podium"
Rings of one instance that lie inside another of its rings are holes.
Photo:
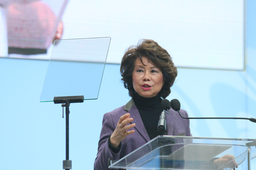
[[[104,115],[95,170],[108,170],[109,160],[119,160],[158,136],[161,98],[171,93],[177,76],[169,53],[153,40],[130,47],[122,58],[120,71],[132,99]],[[191,136],[189,119],[182,119],[172,109],[169,112],[167,135]],[[185,110],[180,113],[188,117]]]

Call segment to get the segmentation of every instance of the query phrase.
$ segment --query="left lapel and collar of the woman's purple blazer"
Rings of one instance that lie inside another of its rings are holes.
[[[139,111],[134,103],[134,100],[131,99],[125,106],[124,110],[130,113],[130,117],[134,120],[131,122],[135,123],[135,129],[143,136],[143,138],[149,142],[150,138],[148,136],[147,130],[142,122],[141,116],[139,115]]]

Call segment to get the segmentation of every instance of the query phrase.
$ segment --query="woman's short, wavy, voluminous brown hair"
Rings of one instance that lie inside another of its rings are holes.
[[[135,60],[142,57],[147,57],[156,67],[163,73],[163,87],[160,90],[160,97],[165,99],[171,93],[171,86],[177,77],[178,71],[174,66],[169,53],[158,45],[154,40],[141,40],[137,46],[130,46],[127,49],[121,62],[121,76],[124,82],[124,88],[129,90],[129,95],[134,97],[135,90],[132,84],[132,73],[135,67]]]

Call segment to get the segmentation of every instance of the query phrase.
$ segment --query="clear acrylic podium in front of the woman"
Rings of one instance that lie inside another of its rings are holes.
[[[256,157],[256,139],[158,136],[109,168],[139,170],[252,170]],[[232,159],[216,163],[231,155]]]

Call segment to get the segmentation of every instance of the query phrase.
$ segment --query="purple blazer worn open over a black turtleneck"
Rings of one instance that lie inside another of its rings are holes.
[[[131,135],[128,135],[121,143],[121,150],[115,154],[108,147],[108,137],[114,132],[119,118],[125,113],[130,113],[130,117],[134,120],[136,126],[130,130],[135,130]],[[189,119],[183,119],[178,112],[173,109],[169,110],[170,114],[166,114],[167,135],[173,136],[192,136],[189,128]],[[185,110],[180,110],[184,117],[188,117]],[[105,113],[102,121],[102,129],[100,133],[100,140],[98,142],[98,154],[95,159],[95,170],[110,170],[108,168],[108,160],[119,160],[143,144],[149,142],[148,133],[143,125],[139,111],[131,99],[125,106],[117,108],[112,112]],[[116,170],[116,169],[113,169]]]

